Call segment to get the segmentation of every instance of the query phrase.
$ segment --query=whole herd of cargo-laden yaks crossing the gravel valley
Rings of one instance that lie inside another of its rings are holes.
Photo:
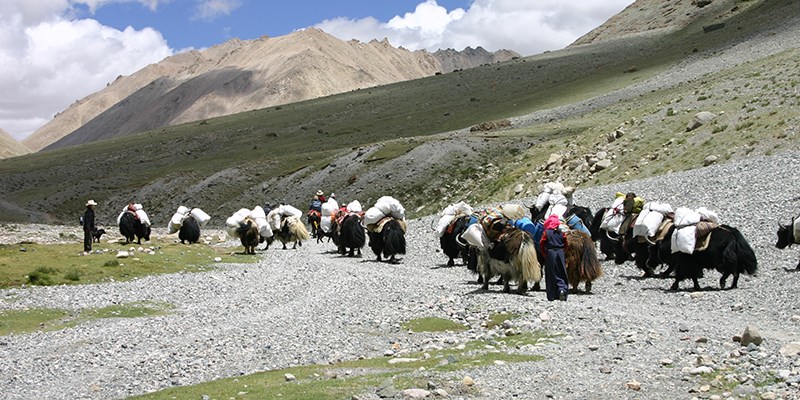
[[[504,292],[510,292],[513,283],[516,293],[524,294],[529,288],[539,289],[542,279],[539,260],[543,260],[539,241],[543,221],[554,213],[559,215],[559,229],[566,237],[565,263],[573,292],[578,291],[581,282],[585,291],[590,292],[592,282],[602,275],[596,243],[606,259],[617,264],[633,261],[643,277],[673,277],[669,288],[672,291],[678,290],[680,282],[686,279],[692,280],[692,290],[700,290],[698,279],[704,270],[712,269],[722,274],[721,289],[730,276],[733,277],[730,288],[736,288],[742,273],[753,275],[758,268],[755,252],[741,232],[720,224],[713,212],[704,208],[673,211],[662,203],[646,203],[633,193],[618,193],[609,207],[595,213],[572,204],[570,189],[563,186],[546,187],[537,203],[526,208],[507,204],[473,210],[462,202],[447,207],[433,230],[439,236],[442,252],[449,258],[448,266],[455,265],[460,258],[478,274],[484,290],[488,290],[493,277],[499,276]],[[360,257],[367,239],[377,261],[383,257],[396,263],[396,257],[406,252],[406,223],[402,213],[391,215],[388,209],[379,213],[375,207],[365,213],[360,204],[353,202],[337,205],[335,211],[323,214],[327,215],[308,214],[311,236],[318,243],[328,238],[341,255]],[[229,233],[241,240],[249,254],[255,252],[259,243],[266,242],[266,250],[275,238],[283,242],[284,248],[292,242],[296,248],[310,238],[305,224],[296,216],[275,218],[277,229],[269,236],[264,234],[263,226],[259,230],[259,224],[250,218]],[[320,224],[322,219],[330,219],[330,223]],[[126,237],[131,231],[129,222],[126,219],[120,224]],[[190,243],[196,242],[199,227],[189,225],[194,239]],[[777,234],[776,247],[780,249],[800,243],[800,218],[794,218],[789,225],[780,225]],[[662,267],[663,271],[656,273]],[[800,263],[797,269],[800,270]]]

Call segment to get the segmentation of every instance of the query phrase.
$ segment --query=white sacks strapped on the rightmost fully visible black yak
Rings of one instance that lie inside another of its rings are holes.
[[[671,239],[672,252],[692,254],[696,250],[703,249],[708,245],[710,232],[717,226],[719,226],[719,216],[705,207],[697,210],[678,207],[675,210],[675,231]]]

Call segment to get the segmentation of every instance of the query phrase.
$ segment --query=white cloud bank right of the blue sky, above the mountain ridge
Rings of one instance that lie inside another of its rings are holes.
[[[622,11],[633,0],[475,0],[467,10],[448,11],[426,0],[414,12],[386,22],[375,18],[325,20],[315,27],[340,39],[388,38],[411,50],[482,46],[523,55],[567,46]]]

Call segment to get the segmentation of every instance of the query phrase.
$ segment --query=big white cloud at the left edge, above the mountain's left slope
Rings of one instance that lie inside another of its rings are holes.
[[[70,18],[78,2],[102,1],[0,2],[0,128],[17,139],[117,76],[173,54],[153,29],[120,31]]]

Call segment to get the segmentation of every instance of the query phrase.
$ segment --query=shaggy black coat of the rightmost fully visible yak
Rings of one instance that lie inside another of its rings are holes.
[[[692,254],[672,253],[670,238],[675,227],[670,230],[672,232],[659,244],[658,254],[662,262],[675,268],[675,282],[669,288],[671,291],[678,290],[680,282],[684,279],[692,280],[694,284],[692,290],[700,290],[697,280],[703,277],[704,269],[716,269],[722,274],[719,279],[720,289],[725,288],[725,281],[729,276],[733,275],[731,289],[734,289],[739,283],[741,273],[753,275],[758,270],[758,261],[753,248],[734,227],[720,225],[714,228],[710,233],[711,240],[708,247]]]

